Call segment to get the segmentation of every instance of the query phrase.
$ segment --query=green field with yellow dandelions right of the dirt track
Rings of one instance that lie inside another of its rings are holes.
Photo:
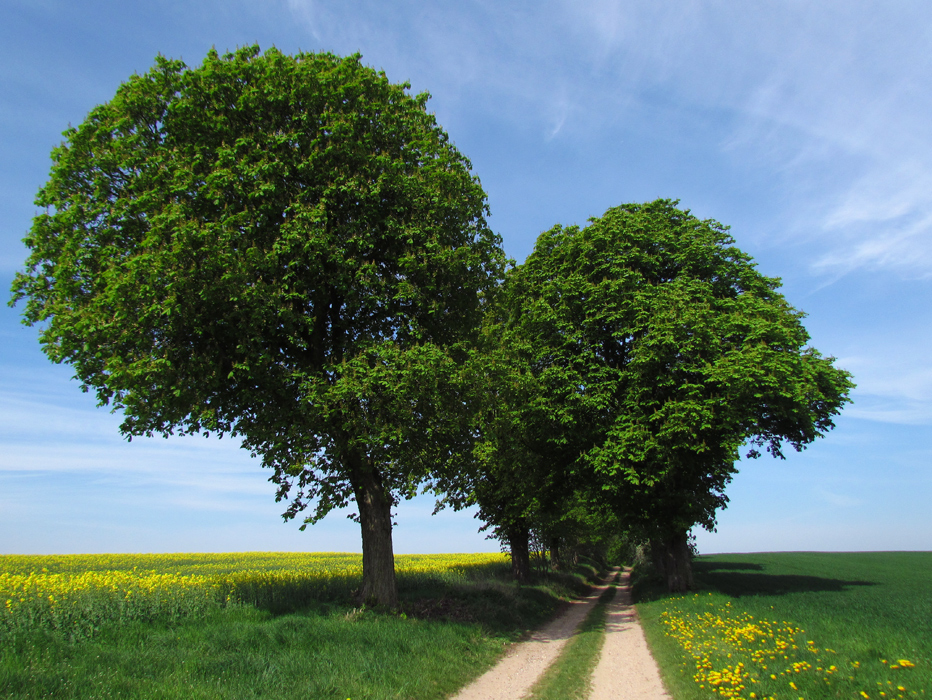
[[[932,553],[716,555],[694,568],[697,590],[685,596],[660,594],[643,579],[635,587],[677,700],[932,690]],[[915,665],[893,668],[900,659]]]

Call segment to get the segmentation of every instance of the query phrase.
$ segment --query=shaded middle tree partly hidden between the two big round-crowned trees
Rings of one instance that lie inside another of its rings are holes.
[[[518,582],[531,578],[531,545],[575,560],[603,538],[602,518],[587,512],[573,467],[586,445],[585,421],[559,368],[537,361],[538,347],[518,321],[521,266],[489,295],[480,342],[470,358],[473,461],[445,483],[442,505],[477,506],[477,517],[509,550]],[[518,296],[516,296],[518,295]],[[591,509],[589,509],[591,511]],[[594,550],[591,550],[594,551]]]

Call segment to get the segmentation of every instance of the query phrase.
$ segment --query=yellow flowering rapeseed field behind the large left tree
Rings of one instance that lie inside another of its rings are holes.
[[[400,555],[399,583],[454,580],[502,566],[501,554]],[[229,604],[269,608],[346,595],[362,557],[342,553],[0,556],[0,639],[36,628],[77,638],[130,620],[175,619]]]

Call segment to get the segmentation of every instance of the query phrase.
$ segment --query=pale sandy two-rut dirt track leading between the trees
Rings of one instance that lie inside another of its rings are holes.
[[[530,639],[515,644],[496,666],[463,688],[452,700],[519,700],[560,655],[599,596],[614,578],[594,586],[585,598],[570,604],[569,610]],[[605,644],[592,675],[590,700],[665,700],[657,664],[631,605],[629,572],[621,574],[615,599],[609,604]]]

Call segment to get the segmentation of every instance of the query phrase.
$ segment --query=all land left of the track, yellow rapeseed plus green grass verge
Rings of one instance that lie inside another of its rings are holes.
[[[441,698],[586,587],[499,554],[396,557],[401,605],[353,602],[353,554],[0,556],[5,698]]]

